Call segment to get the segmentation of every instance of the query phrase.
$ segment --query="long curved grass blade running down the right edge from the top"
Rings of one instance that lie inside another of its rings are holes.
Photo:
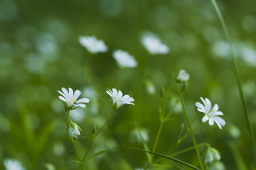
[[[242,85],[241,85],[241,77],[240,77],[240,73],[239,73],[239,70],[238,70],[236,58],[234,57],[234,52],[233,52],[231,40],[230,40],[230,37],[229,37],[229,32],[228,32],[228,29],[226,28],[226,24],[224,22],[224,19],[222,18],[221,12],[218,8],[218,5],[217,5],[216,1],[215,0],[210,0],[210,1],[212,1],[212,4],[213,4],[213,6],[214,6],[214,8],[215,8],[215,10],[218,14],[218,18],[220,18],[220,22],[221,22],[222,27],[224,29],[226,39],[229,42],[229,48],[230,48],[230,52],[231,52],[231,56],[232,56],[234,71],[235,71],[236,77],[237,77],[238,89],[239,89],[240,97],[241,97],[242,104],[243,104],[243,110],[245,112],[247,128],[249,129],[249,133],[251,134],[251,137],[254,138],[253,127],[251,125],[250,116],[249,116],[249,113],[247,111],[245,97],[243,96]],[[254,150],[254,159],[256,160],[256,145],[255,145],[255,142],[253,141],[253,139],[251,139],[251,143],[253,145],[253,150]]]

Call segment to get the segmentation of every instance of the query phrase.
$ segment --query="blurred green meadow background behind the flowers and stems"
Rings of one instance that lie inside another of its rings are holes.
[[[255,131],[256,1],[217,3],[232,40]],[[0,30],[0,169],[5,169],[6,158],[18,160],[26,169],[81,169],[69,160],[77,158],[57,92],[62,87],[80,90],[80,97],[90,99],[86,108],[69,115],[82,129],[76,139],[81,155],[92,138],[92,125],[100,129],[112,112],[106,90],[116,88],[134,98],[135,105],[114,112],[89,154],[116,147],[85,162],[85,169],[146,167],[144,152],[122,145],[144,149],[136,132],[138,125],[152,150],[160,124],[160,93],[162,88],[167,92],[172,73],[180,70],[190,75],[183,100],[191,121],[200,97],[217,103],[224,113],[226,125],[221,130],[205,122],[194,131],[198,144],[207,142],[221,153],[220,161],[209,169],[256,169],[229,45],[210,1],[2,0]],[[144,32],[158,36],[170,52],[150,54],[142,44]],[[89,53],[79,42],[80,36],[87,35],[103,40],[108,52]],[[116,49],[134,56],[138,65],[119,67],[113,58]],[[167,112],[177,99],[172,86]],[[197,111],[193,125],[203,116]],[[163,125],[155,152],[170,155],[193,146],[188,136],[172,150],[182,124],[187,131],[179,103]],[[206,149],[199,147],[202,160]],[[200,168],[195,150],[174,158]],[[159,164],[172,167],[149,169],[179,169],[167,159]]]

